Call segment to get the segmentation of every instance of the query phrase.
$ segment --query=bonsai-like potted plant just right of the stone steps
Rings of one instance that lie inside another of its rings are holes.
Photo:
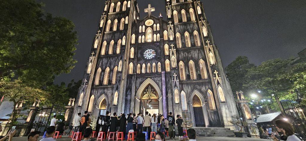
[[[229,121],[229,122],[232,123],[233,125],[237,125],[238,127],[240,127],[240,130],[238,132],[234,132],[236,137],[247,138],[248,137],[248,132],[244,132],[243,127],[248,126],[248,123],[245,122],[245,121],[242,121],[238,114],[233,115],[232,118],[234,120]]]

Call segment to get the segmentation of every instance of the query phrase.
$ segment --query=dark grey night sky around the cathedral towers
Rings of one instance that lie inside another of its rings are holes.
[[[66,17],[75,24],[79,45],[74,59],[78,61],[70,74],[62,74],[55,83],[66,84],[83,78],[91,44],[96,34],[105,0],[38,0],[44,10]],[[223,67],[237,56],[248,56],[259,65],[273,58],[297,56],[306,47],[305,0],[201,0],[211,24]],[[147,4],[165,18],[164,0],[138,0],[140,19]]]

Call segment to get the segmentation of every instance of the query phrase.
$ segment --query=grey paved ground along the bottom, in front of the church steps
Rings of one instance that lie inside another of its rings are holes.
[[[42,137],[39,137],[40,140]],[[14,137],[13,141],[26,141],[27,137]],[[71,141],[71,138],[67,136],[63,136],[62,139],[55,139],[57,141]],[[96,139],[92,139],[95,141]],[[168,140],[168,139],[167,139]],[[269,141],[268,139],[255,139],[255,138],[228,138],[228,137],[198,137],[197,141]],[[169,140],[170,141],[170,140]],[[179,141],[179,139],[171,140],[171,141]]]

